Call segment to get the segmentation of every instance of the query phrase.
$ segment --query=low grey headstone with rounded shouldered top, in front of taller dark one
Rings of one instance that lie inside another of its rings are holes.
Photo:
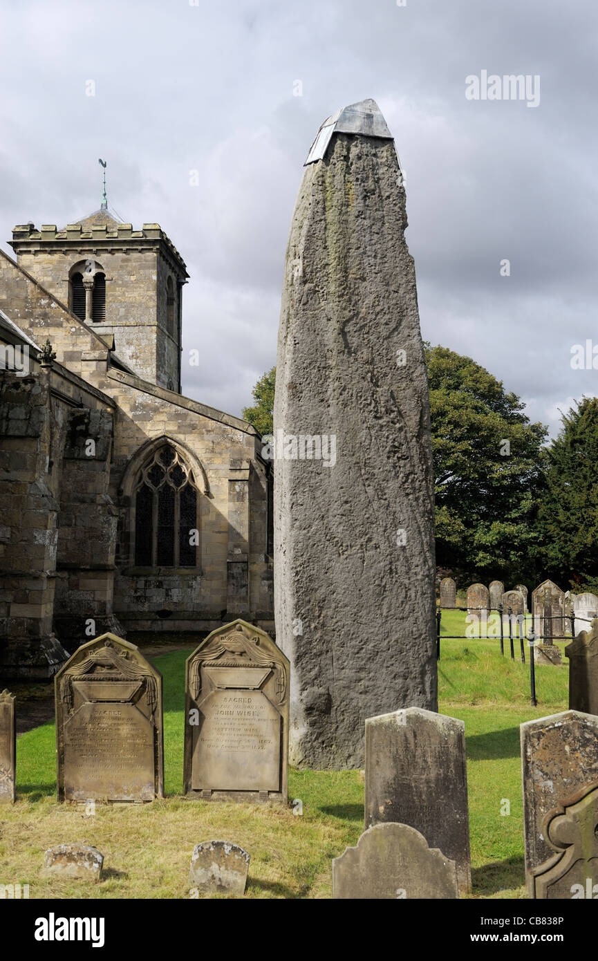
[[[333,860],[333,898],[459,898],[457,867],[409,825],[372,825]]]

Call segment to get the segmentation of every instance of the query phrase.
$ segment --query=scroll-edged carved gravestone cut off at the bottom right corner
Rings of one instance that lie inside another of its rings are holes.
[[[598,898],[598,787],[547,814],[542,833],[557,853],[531,872],[532,897]]]

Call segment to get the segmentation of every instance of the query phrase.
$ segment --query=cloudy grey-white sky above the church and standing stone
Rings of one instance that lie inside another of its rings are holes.
[[[406,171],[422,335],[553,432],[559,408],[598,393],[598,371],[571,367],[574,344],[598,344],[595,0],[195,2],[4,0],[9,254],[14,224],[97,209],[107,159],[112,209],[159,222],[187,262],[184,392],[238,415],[276,360],[311,140],[373,97]],[[539,104],[466,99],[484,70],[537,75]]]

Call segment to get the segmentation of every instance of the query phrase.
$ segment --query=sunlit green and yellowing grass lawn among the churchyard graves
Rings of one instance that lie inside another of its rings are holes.
[[[465,614],[443,611],[442,628],[464,633]],[[538,703],[531,707],[529,664],[511,661],[508,642],[502,657],[499,645],[443,640],[438,664],[439,709],[465,722],[474,898],[525,896],[519,725],[567,706],[566,658],[561,668],[536,666]],[[331,859],[355,845],[362,830],[360,772],[291,770],[289,797],[301,799],[302,816],[275,805],[187,801],[181,796],[187,655],[152,658],[164,683],[163,801],[97,804],[92,816],[58,804],[54,725],[18,738],[18,800],[0,809],[2,883],[28,883],[30,898],[185,898],[193,846],[222,838],[251,854],[246,897],[331,897]],[[102,882],[44,879],[43,851],[79,840],[104,854]]]

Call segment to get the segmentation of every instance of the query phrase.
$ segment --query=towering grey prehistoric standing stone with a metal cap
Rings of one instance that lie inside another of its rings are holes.
[[[365,718],[436,710],[434,475],[405,189],[373,100],[312,145],[287,247],[274,434],[290,760],[363,764]]]

